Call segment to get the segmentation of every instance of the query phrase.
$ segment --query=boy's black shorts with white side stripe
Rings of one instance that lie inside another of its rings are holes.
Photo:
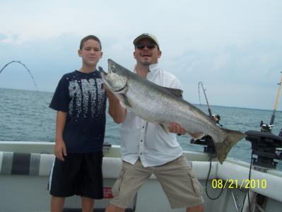
[[[102,152],[68,153],[64,161],[55,159],[48,189],[53,196],[102,199],[102,180]]]

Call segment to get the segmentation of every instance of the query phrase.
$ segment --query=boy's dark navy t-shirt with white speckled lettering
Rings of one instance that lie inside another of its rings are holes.
[[[62,76],[49,107],[67,112],[63,139],[69,153],[102,151],[106,100],[99,71]]]

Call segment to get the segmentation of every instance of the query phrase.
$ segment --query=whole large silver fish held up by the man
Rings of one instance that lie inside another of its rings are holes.
[[[230,149],[246,135],[225,129],[212,117],[182,98],[182,90],[159,86],[108,59],[107,73],[98,67],[102,79],[127,110],[169,133],[170,123],[180,124],[193,139],[211,136],[216,157],[223,164]]]

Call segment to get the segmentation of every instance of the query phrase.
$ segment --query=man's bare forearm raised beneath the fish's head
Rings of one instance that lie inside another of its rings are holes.
[[[109,114],[114,119],[114,122],[120,124],[125,119],[125,114],[127,114],[127,110],[120,104],[119,100],[114,96],[109,89],[106,88],[107,98],[109,99]]]

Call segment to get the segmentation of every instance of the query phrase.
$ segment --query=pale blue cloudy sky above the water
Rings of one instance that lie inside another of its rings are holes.
[[[21,61],[40,91],[54,92],[64,73],[81,67],[77,50],[86,35],[100,37],[99,65],[107,70],[109,58],[132,69],[134,38],[151,33],[162,51],[160,67],[180,79],[188,102],[199,104],[202,81],[210,105],[274,110],[282,74],[280,0],[0,0],[0,14],[0,69]],[[0,73],[0,88],[35,90],[18,63]]]

